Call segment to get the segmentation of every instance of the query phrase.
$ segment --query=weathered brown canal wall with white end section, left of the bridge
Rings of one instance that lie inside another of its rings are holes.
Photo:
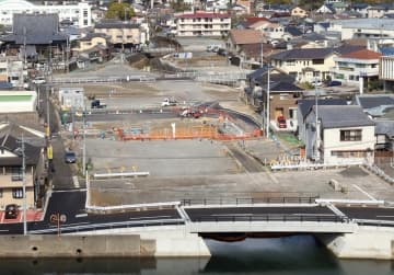
[[[197,234],[1,236],[0,257],[210,256]]]

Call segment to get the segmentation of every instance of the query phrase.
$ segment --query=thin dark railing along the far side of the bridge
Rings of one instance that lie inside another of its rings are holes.
[[[255,204],[315,204],[318,197],[241,197],[241,198],[184,198],[183,206],[193,205],[255,205]]]

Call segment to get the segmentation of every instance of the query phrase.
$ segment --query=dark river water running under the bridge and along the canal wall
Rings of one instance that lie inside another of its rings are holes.
[[[394,262],[337,260],[312,237],[208,241],[210,259],[48,259],[0,260],[2,275],[385,275]]]

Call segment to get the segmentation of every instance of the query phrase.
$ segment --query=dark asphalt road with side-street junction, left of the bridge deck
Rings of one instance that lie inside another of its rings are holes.
[[[182,222],[176,209],[127,211],[114,214],[88,214],[84,209],[85,192],[54,192],[43,221],[28,222],[31,233],[57,233],[57,224],[50,222],[51,215],[65,215],[61,231],[89,231],[94,229],[125,228],[149,225],[174,225]],[[178,220],[178,221],[174,221]],[[2,224],[0,234],[22,234],[23,224]]]

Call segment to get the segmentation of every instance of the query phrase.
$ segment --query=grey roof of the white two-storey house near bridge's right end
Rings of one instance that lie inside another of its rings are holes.
[[[324,129],[374,125],[373,121],[357,105],[318,106],[318,117]]]

